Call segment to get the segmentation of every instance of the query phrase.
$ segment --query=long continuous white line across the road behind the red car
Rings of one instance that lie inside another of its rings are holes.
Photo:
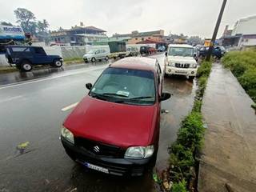
[[[30,84],[30,83],[34,83],[34,82],[43,82],[43,81],[54,79],[54,78],[67,77],[67,76],[71,76],[71,75],[74,75],[74,74],[83,74],[83,73],[90,72],[90,71],[93,71],[93,70],[102,70],[102,69],[105,69],[105,68],[106,68],[106,66],[101,66],[101,67],[97,67],[96,69],[93,68],[93,69],[90,69],[90,70],[78,71],[78,72],[75,72],[73,74],[62,74],[62,75],[56,75],[56,76],[50,77],[50,78],[38,78],[37,80],[28,80],[28,81],[20,82],[20,83],[10,83],[10,84],[7,84],[6,86],[0,86],[0,90],[6,89],[6,88],[11,88],[11,87],[14,87],[14,86],[22,86],[22,85],[26,85],[26,84]]]

